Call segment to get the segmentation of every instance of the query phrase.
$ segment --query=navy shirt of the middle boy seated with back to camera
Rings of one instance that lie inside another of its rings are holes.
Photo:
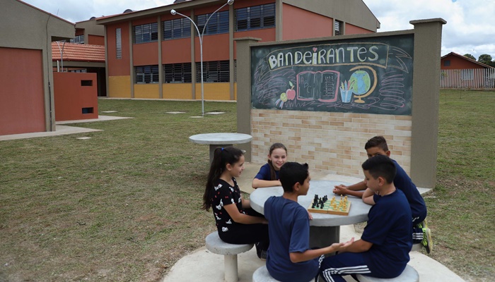
[[[284,197],[269,197],[264,202],[268,219],[270,246],[267,269],[278,281],[310,281],[318,274],[318,258],[306,262],[291,262],[290,252],[309,249],[309,217],[301,204]]]

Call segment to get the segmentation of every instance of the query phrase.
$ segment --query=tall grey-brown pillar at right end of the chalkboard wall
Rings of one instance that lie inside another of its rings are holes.
[[[442,18],[412,20],[414,73],[412,84],[411,178],[421,188],[434,188],[438,143]]]

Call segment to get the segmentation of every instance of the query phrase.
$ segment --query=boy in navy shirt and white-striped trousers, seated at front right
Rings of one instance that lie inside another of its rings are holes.
[[[327,282],[344,282],[342,276],[349,274],[394,278],[409,262],[411,209],[404,193],[394,186],[395,164],[389,157],[378,155],[366,160],[362,168],[375,204],[368,212],[361,239],[323,260],[320,274]]]

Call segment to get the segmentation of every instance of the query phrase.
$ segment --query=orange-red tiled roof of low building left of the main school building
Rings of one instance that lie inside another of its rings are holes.
[[[105,46],[52,42],[52,61],[61,61],[60,51],[64,51],[64,61],[86,61],[105,63]]]

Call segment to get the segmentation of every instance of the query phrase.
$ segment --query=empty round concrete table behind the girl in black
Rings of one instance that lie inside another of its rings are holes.
[[[215,149],[217,147],[229,147],[233,144],[248,143],[252,136],[244,133],[204,133],[192,135],[189,137],[191,142],[197,144],[210,145],[210,164],[213,161]]]

